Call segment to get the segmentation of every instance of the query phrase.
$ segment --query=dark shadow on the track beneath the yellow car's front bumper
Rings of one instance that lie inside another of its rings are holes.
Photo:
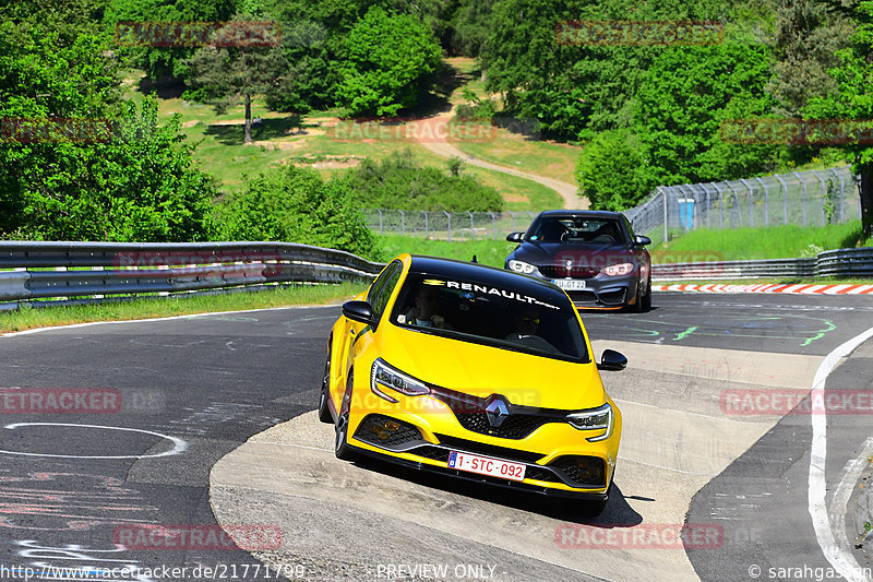
[[[603,512],[597,518],[587,518],[574,511],[574,504],[583,503],[583,501],[567,503],[546,497],[542,494],[510,489],[488,483],[471,482],[433,473],[424,473],[372,458],[356,459],[355,465],[367,471],[373,471],[408,480],[422,487],[453,492],[490,503],[498,503],[519,511],[560,520],[562,522],[584,523],[594,527],[601,526],[605,528],[632,527],[643,523],[643,516],[627,503],[621,489],[617,485],[612,486],[609,502]]]

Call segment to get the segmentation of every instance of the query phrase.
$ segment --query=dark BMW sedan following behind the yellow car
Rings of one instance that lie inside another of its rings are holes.
[[[551,281],[579,309],[651,307],[651,240],[635,235],[623,214],[547,211],[506,240],[518,242],[506,269]]]

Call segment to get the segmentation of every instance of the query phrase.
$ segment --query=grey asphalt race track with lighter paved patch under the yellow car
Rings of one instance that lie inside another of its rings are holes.
[[[820,371],[873,325],[873,301],[654,302],[583,314],[598,354],[630,359],[603,372],[625,427],[618,491],[588,522],[335,460],[313,408],[337,307],[2,337],[0,579],[275,579],[264,561],[288,580],[815,580],[873,566],[858,509],[873,341]],[[816,372],[842,408],[786,414]],[[683,527],[686,547],[670,544]],[[62,570],[77,567],[91,578]]]

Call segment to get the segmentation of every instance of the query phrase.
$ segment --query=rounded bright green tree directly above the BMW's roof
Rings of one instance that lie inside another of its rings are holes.
[[[635,206],[657,183],[647,174],[646,154],[626,129],[598,134],[576,165],[579,193],[594,210],[623,211]]]

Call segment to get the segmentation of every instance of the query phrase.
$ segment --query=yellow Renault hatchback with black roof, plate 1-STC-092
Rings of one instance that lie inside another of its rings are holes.
[[[567,295],[476,263],[402,254],[333,326],[319,416],[355,454],[584,501],[599,514],[621,413]]]

